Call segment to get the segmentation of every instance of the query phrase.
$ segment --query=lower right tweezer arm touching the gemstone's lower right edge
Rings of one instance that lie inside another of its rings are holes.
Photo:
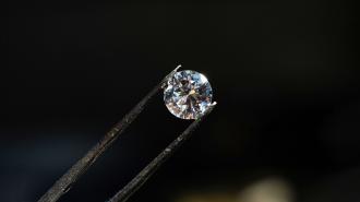
[[[179,148],[199,127],[200,122],[213,110],[213,103],[203,116],[194,120],[176,140],[173,140],[158,156],[141,170],[124,188],[118,191],[108,202],[124,202]]]

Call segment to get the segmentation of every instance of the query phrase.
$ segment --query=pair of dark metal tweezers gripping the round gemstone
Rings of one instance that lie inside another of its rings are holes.
[[[135,105],[118,123],[116,123],[104,138],[93,146],[82,158],[80,158],[70,169],[63,174],[48,191],[38,200],[38,202],[56,202],[65,194],[77,179],[97,161],[97,158],[124,132],[124,130],[136,119],[141,111],[146,107],[148,100],[154,97],[166,84],[168,79],[178,71],[178,66],[159,84],[157,84],[141,102]],[[127,201],[142,185],[165,163],[177,148],[179,148],[199,127],[200,122],[213,110],[214,102],[206,111],[173,140],[163,152],[160,152],[147,166],[145,166],[125,187],[119,190],[108,202]]]

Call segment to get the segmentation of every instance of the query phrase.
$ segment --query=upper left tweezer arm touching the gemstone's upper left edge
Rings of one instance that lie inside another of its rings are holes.
[[[145,108],[147,102],[161,88],[163,84],[171,78],[181,66],[172,70],[156,85],[128,115],[125,115],[105,136],[79,159],[55,185],[38,200],[38,202],[55,202],[67,193],[73,183],[94,164],[94,162],[116,141],[119,135],[132,123]]]

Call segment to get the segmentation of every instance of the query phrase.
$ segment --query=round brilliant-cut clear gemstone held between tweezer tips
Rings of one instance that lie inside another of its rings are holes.
[[[167,82],[164,102],[169,111],[181,119],[197,119],[211,106],[212,86],[195,71],[177,72]]]

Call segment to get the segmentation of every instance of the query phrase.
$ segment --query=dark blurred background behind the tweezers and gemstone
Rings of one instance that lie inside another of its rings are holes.
[[[356,7],[8,2],[0,201],[36,201],[179,63],[216,109],[131,202],[360,201]],[[106,201],[191,121],[159,93],[61,202]]]

